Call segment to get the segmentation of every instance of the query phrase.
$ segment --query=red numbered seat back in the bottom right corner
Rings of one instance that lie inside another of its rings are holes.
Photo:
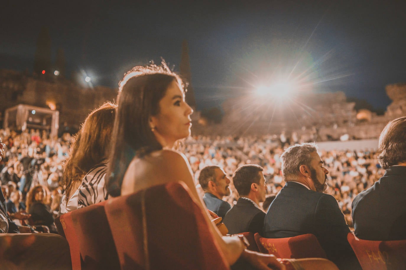
[[[406,269],[406,240],[363,240],[351,232],[347,239],[363,269]]]

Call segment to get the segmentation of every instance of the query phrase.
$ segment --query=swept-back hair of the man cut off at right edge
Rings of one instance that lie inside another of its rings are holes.
[[[406,117],[390,121],[379,136],[378,161],[385,170],[406,162]]]

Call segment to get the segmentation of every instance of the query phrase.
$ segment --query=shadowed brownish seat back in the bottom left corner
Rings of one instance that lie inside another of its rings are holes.
[[[0,234],[0,269],[71,270],[69,244],[58,234]]]

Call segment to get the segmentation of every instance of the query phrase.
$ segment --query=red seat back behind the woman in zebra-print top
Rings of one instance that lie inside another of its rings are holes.
[[[65,223],[63,228],[71,247],[74,270],[120,268],[105,204],[106,201],[93,204],[60,217],[62,225]]]

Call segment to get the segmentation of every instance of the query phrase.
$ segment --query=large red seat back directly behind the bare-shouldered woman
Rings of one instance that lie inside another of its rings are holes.
[[[229,269],[184,183],[157,185],[106,204],[121,269]]]

